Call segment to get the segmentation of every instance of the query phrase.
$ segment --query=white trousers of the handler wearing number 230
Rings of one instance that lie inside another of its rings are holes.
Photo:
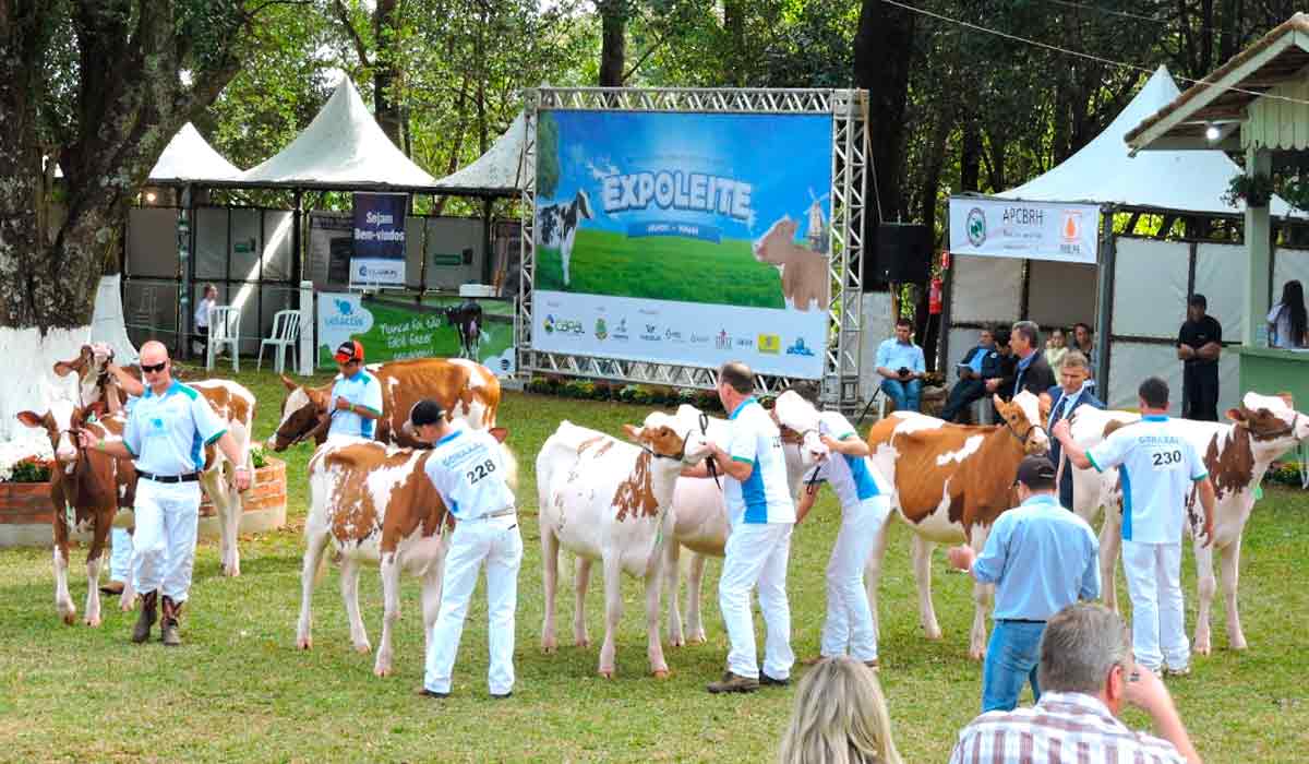
[[[1136,662],[1158,671],[1186,668],[1191,645],[1186,638],[1182,600],[1182,544],[1123,541],[1123,571],[1132,599],[1132,653]],[[1162,650],[1160,643],[1162,642]]]

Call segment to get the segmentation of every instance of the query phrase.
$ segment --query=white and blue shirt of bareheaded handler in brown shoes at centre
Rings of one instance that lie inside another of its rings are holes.
[[[732,440],[725,451],[733,461],[754,465],[745,481],[724,481],[728,522],[795,523],[796,505],[787,487],[787,457],[778,426],[754,397],[741,401],[728,419]]]

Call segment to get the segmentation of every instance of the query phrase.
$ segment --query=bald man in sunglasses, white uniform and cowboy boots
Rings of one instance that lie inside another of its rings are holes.
[[[132,406],[123,439],[105,442],[85,430],[77,438],[85,448],[131,459],[136,467],[132,586],[141,595],[141,615],[132,629],[132,641],[151,638],[162,591],[160,638],[175,646],[182,643],[178,615],[191,588],[195,563],[204,447],[217,442],[223,453],[238,465],[237,490],[250,487],[250,470],[223,419],[200,393],[173,379],[169,363],[164,345],[154,341],[143,345],[145,393]]]

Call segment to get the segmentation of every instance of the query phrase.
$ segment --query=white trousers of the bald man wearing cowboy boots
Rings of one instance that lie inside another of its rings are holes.
[[[136,481],[132,588],[186,602],[200,523],[199,482]]]

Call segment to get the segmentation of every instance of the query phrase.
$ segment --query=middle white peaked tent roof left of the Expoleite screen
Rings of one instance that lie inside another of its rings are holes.
[[[350,77],[291,145],[241,173],[245,186],[300,189],[419,189],[432,176],[386,138]]]

